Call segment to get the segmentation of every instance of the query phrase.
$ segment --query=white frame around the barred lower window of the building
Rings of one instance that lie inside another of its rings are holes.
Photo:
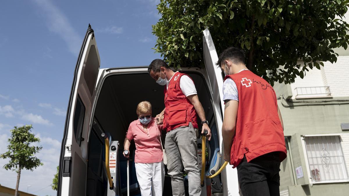
[[[309,166],[309,160],[308,160],[308,155],[307,155],[307,151],[306,151],[306,147],[305,147],[305,137],[314,137],[314,136],[338,136],[339,139],[339,144],[341,146],[342,149],[342,153],[343,153],[343,148],[342,148],[342,144],[341,144],[341,135],[345,135],[345,134],[313,134],[313,135],[302,135],[302,148],[303,148],[303,153],[304,153],[304,159],[305,159],[305,165],[306,165],[306,172],[308,174],[308,179],[309,179],[309,184],[324,184],[324,183],[341,183],[341,182],[349,182],[349,173],[348,173],[348,168],[346,168],[347,172],[347,178],[348,179],[344,179],[344,180],[322,180],[322,181],[313,181],[312,179],[312,175],[310,172],[310,166]],[[343,153],[343,158],[344,158],[344,166],[347,167],[347,165],[345,164],[345,157],[344,157],[344,153]]]

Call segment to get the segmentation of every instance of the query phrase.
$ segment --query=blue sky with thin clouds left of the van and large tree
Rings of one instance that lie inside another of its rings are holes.
[[[0,153],[9,130],[32,124],[41,138],[44,166],[23,171],[20,190],[55,195],[49,187],[58,165],[73,72],[90,23],[101,68],[144,66],[160,54],[151,49],[158,0],[2,1],[0,6]],[[0,184],[14,188],[16,173],[0,160]],[[6,178],[4,178],[6,176]],[[33,178],[32,176],[35,176]]]

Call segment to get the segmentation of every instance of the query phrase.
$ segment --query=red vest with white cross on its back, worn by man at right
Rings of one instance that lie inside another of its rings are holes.
[[[230,151],[233,168],[246,156],[247,162],[269,152],[280,152],[286,158],[285,139],[277,114],[277,99],[273,87],[249,70],[225,76],[238,89],[239,107],[236,133]]]

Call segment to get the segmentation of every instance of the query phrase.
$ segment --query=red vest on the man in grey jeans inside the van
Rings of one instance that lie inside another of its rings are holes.
[[[165,86],[163,128],[167,132],[181,126],[189,126],[190,122],[192,122],[194,128],[198,128],[195,108],[180,89],[179,81],[183,75],[186,74],[175,73],[169,83],[169,88],[166,89]]]

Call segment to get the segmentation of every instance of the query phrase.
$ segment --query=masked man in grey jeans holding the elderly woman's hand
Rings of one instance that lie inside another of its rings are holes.
[[[198,123],[196,114],[202,123],[202,131],[211,130],[205,117],[205,111],[199,101],[193,80],[186,74],[174,72],[161,59],[155,59],[149,65],[150,76],[160,85],[165,85],[165,109],[157,116],[167,131],[165,150],[167,154],[168,174],[171,176],[172,194],[184,196],[183,169],[188,174],[189,195],[201,194],[200,171],[198,168],[196,136]],[[161,122],[163,116],[163,122]]]

